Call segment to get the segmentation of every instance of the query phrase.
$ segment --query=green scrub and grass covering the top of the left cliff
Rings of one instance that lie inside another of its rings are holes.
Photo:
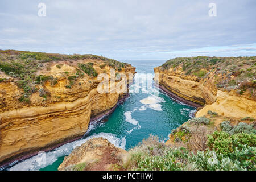
[[[57,84],[57,80],[52,76],[39,75],[36,76],[36,72],[43,69],[46,66],[47,70],[50,70],[50,63],[52,61],[76,61],[80,59],[98,59],[102,61],[102,64],[108,64],[114,69],[126,68],[129,64],[121,63],[119,61],[108,59],[103,56],[97,55],[62,55],[57,53],[44,53],[44,52],[28,52],[28,51],[14,51],[14,50],[0,50],[0,71],[4,72],[15,78],[15,82],[19,88],[24,90],[23,95],[19,98],[20,102],[30,102],[30,96],[32,93],[38,92],[36,89],[37,84],[44,84],[45,81],[51,81],[51,85]],[[63,64],[57,64],[57,68],[61,68]],[[96,77],[98,73],[93,68],[93,63],[79,64],[79,68],[89,76]],[[77,69],[76,75],[83,77],[84,73],[80,69]],[[65,72],[69,75],[68,72]],[[0,82],[5,81],[5,78],[0,78]],[[70,84],[66,88],[71,88],[75,80],[74,76],[69,76]],[[46,98],[44,90],[41,90],[42,97]]]

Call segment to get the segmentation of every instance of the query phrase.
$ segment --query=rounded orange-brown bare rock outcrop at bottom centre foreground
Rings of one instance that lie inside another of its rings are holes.
[[[115,147],[107,139],[102,137],[92,138],[80,147],[76,147],[71,154],[65,156],[58,170],[120,170],[122,161],[126,158],[127,153],[127,151]]]

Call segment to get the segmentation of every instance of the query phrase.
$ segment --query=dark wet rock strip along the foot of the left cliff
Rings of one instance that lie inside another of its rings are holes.
[[[96,115],[94,118],[90,119],[89,121],[89,124],[88,126],[90,125],[90,122],[95,122],[95,121],[98,121],[98,119],[102,118],[102,117],[105,117],[111,113],[113,113],[113,111],[115,110],[115,108],[119,105],[119,104],[123,104],[123,102],[125,102],[125,100],[130,96],[129,93],[125,94],[122,98],[120,98],[118,101],[117,101],[117,104],[114,105],[114,107],[112,107],[111,109],[107,110],[107,111],[104,111],[103,113],[101,114],[98,114]],[[87,132],[87,131],[86,131]],[[8,160],[8,162],[3,162],[2,164],[0,164],[0,168],[3,168],[3,167],[6,167],[8,165],[10,165],[11,163],[14,163],[16,161],[16,163],[19,163],[21,160],[25,160],[25,159],[28,159],[28,158],[31,158],[32,156],[35,156],[35,155],[38,155],[38,152],[39,151],[44,151],[44,152],[49,152],[49,151],[52,151],[60,146],[63,146],[64,144],[67,144],[67,143],[71,143],[71,142],[74,142],[75,140],[79,140],[81,139],[82,137],[84,137],[84,135],[86,134],[86,132],[81,135],[81,136],[78,136],[78,137],[75,137],[75,138],[72,138],[72,139],[68,139],[66,140],[65,142],[61,142],[61,143],[58,143],[58,144],[52,144],[53,146],[50,146],[50,147],[46,147],[46,148],[43,148],[43,149],[40,149],[40,150],[36,150],[36,152],[32,152],[31,154],[27,154],[27,155],[23,155],[23,156],[19,156],[19,157],[16,157],[14,159],[11,159],[11,160]],[[15,163],[15,164],[16,164]],[[15,165],[14,164],[14,165]],[[1,171],[1,170],[0,170]]]

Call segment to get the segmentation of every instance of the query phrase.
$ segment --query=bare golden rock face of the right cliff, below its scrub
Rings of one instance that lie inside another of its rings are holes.
[[[250,90],[244,90],[242,95],[238,90],[226,90],[216,86],[218,77],[214,72],[209,72],[207,78],[198,78],[193,75],[185,75],[182,67],[162,69],[156,67],[155,81],[160,86],[170,90],[185,100],[196,102],[202,106],[196,113],[196,117],[206,115],[208,110],[215,111],[225,117],[245,118],[256,117],[256,102]]]

